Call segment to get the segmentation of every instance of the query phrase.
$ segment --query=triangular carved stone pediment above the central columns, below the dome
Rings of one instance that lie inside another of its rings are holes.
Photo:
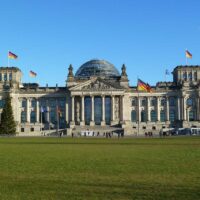
[[[80,83],[72,88],[71,91],[103,91],[103,90],[116,90],[122,89],[120,86],[116,86],[112,83],[109,83],[101,78],[93,78],[84,83]]]

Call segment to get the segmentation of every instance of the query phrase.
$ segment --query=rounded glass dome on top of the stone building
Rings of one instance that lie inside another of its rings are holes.
[[[91,76],[119,77],[120,74],[115,66],[105,60],[90,60],[77,70],[77,78],[89,78]]]

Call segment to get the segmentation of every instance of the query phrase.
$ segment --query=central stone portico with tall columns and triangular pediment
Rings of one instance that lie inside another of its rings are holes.
[[[122,88],[94,77],[71,91],[71,125],[114,125],[123,120]]]

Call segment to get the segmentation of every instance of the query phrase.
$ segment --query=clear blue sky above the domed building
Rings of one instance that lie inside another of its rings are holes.
[[[8,50],[10,65],[23,82],[65,85],[68,66],[74,73],[84,62],[105,59],[130,85],[137,76],[151,85],[164,81],[165,69],[185,64],[185,49],[200,64],[199,0],[1,0],[0,66]],[[30,78],[29,71],[38,74]],[[167,80],[172,80],[168,76]]]

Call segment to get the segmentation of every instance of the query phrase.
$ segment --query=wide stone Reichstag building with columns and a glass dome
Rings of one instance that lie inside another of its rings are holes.
[[[129,85],[125,65],[119,72],[105,60],[90,60],[76,73],[70,65],[63,87],[22,83],[19,68],[0,67],[0,113],[9,92],[19,135],[56,129],[144,135],[200,127],[200,66],[177,66],[172,74],[172,82],[145,92]]]

